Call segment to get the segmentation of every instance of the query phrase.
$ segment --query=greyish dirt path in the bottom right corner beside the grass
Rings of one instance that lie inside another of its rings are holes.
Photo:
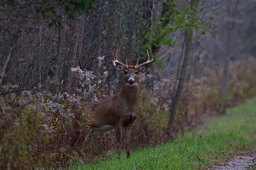
[[[256,151],[229,158],[214,169],[248,169],[256,161]]]

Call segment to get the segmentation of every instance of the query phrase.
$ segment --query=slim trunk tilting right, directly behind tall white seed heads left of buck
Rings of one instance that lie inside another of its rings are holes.
[[[75,25],[74,25],[74,32],[73,32],[73,42],[72,42],[72,48],[71,48],[71,54],[70,58],[68,59],[68,76],[66,79],[66,88],[65,91],[69,92],[71,89],[72,79],[73,75],[71,73],[70,68],[75,67],[76,62],[76,56],[77,56],[77,46],[78,46],[78,39],[79,39],[79,25],[80,25],[80,19],[78,15],[76,15]]]

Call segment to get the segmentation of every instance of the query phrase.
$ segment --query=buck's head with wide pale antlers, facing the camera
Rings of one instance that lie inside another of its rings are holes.
[[[117,53],[118,50],[114,53],[114,60],[113,60],[113,66],[120,72],[124,72],[123,76],[123,83],[125,83],[126,86],[138,86],[139,84],[139,73],[145,73],[147,70],[147,65],[154,62],[156,60],[156,56],[152,54],[152,51],[150,49],[152,59],[150,59],[149,51],[147,50],[147,61],[144,63],[139,64],[139,59],[137,60],[137,63],[135,66],[130,65],[130,61],[126,59],[126,64],[118,61],[117,59]]]

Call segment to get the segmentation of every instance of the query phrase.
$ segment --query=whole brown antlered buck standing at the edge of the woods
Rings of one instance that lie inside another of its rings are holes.
[[[147,50],[147,49],[146,49]],[[72,137],[69,141],[68,148],[64,148],[64,152],[69,152],[75,145],[77,152],[84,162],[86,162],[83,147],[86,140],[93,131],[108,131],[115,129],[118,158],[120,158],[122,148],[122,128],[125,135],[125,151],[127,158],[130,157],[130,144],[132,126],[139,114],[139,90],[140,81],[139,73],[145,73],[147,66],[156,60],[156,56],[152,54],[150,59],[149,51],[147,50],[147,61],[139,64],[139,59],[136,65],[130,65],[130,61],[126,59],[126,63],[118,61],[117,53],[114,52],[112,60],[113,67],[119,72],[123,72],[123,82],[119,93],[111,97],[104,98],[99,104],[89,104],[89,110],[94,113],[91,122],[91,129],[80,130],[79,125],[75,122],[73,125]]]

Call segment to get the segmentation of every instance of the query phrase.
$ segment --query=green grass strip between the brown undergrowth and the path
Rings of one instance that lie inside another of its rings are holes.
[[[117,159],[116,153],[96,164],[78,164],[71,169],[198,169],[211,168],[227,157],[256,148],[256,98],[228,109],[225,116],[185,133],[157,148],[132,151]]]

